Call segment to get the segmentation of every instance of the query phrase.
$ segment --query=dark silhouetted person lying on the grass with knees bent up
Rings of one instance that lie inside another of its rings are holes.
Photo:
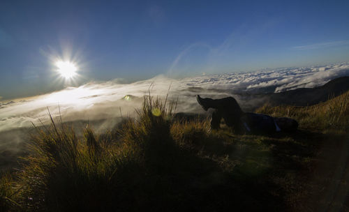
[[[205,110],[213,108],[211,128],[218,129],[223,118],[225,124],[234,128],[235,132],[266,134],[279,131],[295,131],[298,123],[290,118],[276,118],[265,114],[243,112],[237,100],[232,97],[211,99],[196,97],[198,103]]]

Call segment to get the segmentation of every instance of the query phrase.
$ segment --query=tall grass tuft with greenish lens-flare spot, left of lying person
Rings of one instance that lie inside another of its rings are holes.
[[[163,164],[167,166],[170,161],[161,160],[174,157],[174,142],[170,135],[174,105],[170,104],[169,108],[165,106],[166,102],[161,103],[158,98],[146,96],[142,108],[137,110],[138,119],[127,121],[116,132],[125,142],[124,148],[133,156],[140,157],[138,160],[149,165],[149,168],[158,170],[168,169]]]

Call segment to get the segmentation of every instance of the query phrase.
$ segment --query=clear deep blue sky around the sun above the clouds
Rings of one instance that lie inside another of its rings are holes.
[[[0,96],[349,61],[349,1],[1,1]],[[57,79],[54,60],[79,79]]]

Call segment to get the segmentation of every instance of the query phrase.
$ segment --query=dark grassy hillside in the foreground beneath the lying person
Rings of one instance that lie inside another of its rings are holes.
[[[51,118],[50,127],[36,127],[22,168],[2,174],[0,211],[345,211],[343,199],[316,196],[327,185],[314,174],[326,164],[324,144],[345,146],[348,97],[265,105],[258,112],[300,123],[298,132],[268,136],[211,131],[208,119],[176,119],[174,105],[151,96],[137,119],[101,135],[87,126],[79,137]]]

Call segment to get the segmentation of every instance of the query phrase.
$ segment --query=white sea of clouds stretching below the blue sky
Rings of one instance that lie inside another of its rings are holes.
[[[234,96],[244,104],[241,93],[281,92],[297,88],[322,86],[341,76],[349,75],[349,63],[320,67],[278,68],[251,73],[202,75],[184,79],[170,79],[164,75],[131,84],[90,82],[79,87],[31,98],[0,102],[0,132],[25,128],[40,122],[48,123],[48,111],[55,117],[61,114],[64,121],[115,119],[133,116],[143,96],[176,100],[176,112],[203,113],[196,103],[197,94],[203,97],[222,98]],[[125,98],[126,96],[126,98]],[[1,141],[0,141],[1,142]]]

